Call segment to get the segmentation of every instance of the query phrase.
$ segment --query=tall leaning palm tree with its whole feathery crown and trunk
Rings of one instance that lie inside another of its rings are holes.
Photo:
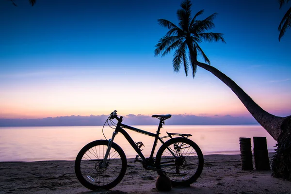
[[[163,36],[155,49],[155,56],[166,55],[175,50],[173,58],[173,68],[178,72],[183,66],[186,76],[188,75],[188,67],[191,65],[192,76],[194,78],[197,66],[211,72],[218,79],[223,81],[242,101],[247,110],[254,116],[259,124],[268,131],[268,133],[278,141],[278,148],[282,141],[289,141],[291,146],[291,116],[279,117],[264,111],[251,97],[249,97],[240,86],[227,77],[224,73],[210,65],[210,60],[199,46],[202,41],[225,43],[222,33],[208,32],[214,28],[213,19],[216,13],[208,16],[204,20],[197,20],[196,17],[203,14],[203,10],[197,12],[194,17],[191,16],[190,0],[181,3],[181,9],[178,9],[178,26],[166,20],[159,19],[161,26],[166,27],[169,31]],[[200,54],[205,63],[199,62],[197,56]],[[286,139],[286,137],[288,137]],[[289,152],[290,154],[291,152]],[[291,160],[291,157],[290,157]],[[291,164],[291,161],[288,165]],[[291,166],[291,165],[290,165]],[[291,169],[289,170],[291,175]],[[290,177],[291,180],[291,177]]]

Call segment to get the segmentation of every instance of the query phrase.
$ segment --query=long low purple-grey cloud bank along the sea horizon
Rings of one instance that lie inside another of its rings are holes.
[[[57,116],[42,119],[0,119],[0,127],[29,127],[29,126],[102,126],[108,115],[90,116]],[[127,125],[158,125],[159,121],[148,115],[128,114],[123,118]],[[236,125],[258,124],[253,117],[225,116],[195,116],[190,114],[174,114],[166,120],[167,125]]]

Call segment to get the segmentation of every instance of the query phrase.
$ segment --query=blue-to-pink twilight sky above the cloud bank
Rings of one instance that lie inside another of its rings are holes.
[[[198,67],[175,73],[173,53],[155,57],[177,24],[180,0],[0,1],[0,118],[129,114],[251,117],[234,93]],[[193,0],[192,14],[218,13],[210,32],[224,43],[201,43],[211,65],[264,110],[291,115],[291,30],[278,41],[276,0]]]

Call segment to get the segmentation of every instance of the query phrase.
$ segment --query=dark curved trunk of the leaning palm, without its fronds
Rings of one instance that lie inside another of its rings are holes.
[[[259,124],[278,142],[272,159],[272,176],[291,181],[291,116],[279,117],[267,113],[249,97],[240,86],[213,66],[195,61],[196,65],[210,71],[223,81],[242,101]]]

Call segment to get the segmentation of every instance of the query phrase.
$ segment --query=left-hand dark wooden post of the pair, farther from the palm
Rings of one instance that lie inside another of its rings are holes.
[[[251,138],[240,137],[242,170],[253,170]]]

